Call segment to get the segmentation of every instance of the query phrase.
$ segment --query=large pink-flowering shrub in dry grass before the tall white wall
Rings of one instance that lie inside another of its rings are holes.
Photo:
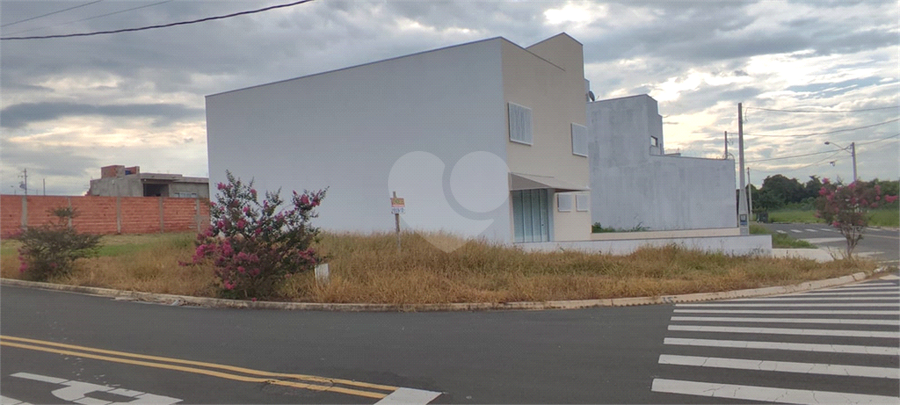
[[[211,261],[226,298],[270,298],[291,274],[315,268],[321,258],[311,247],[318,229],[310,225],[326,190],[293,192],[290,206],[280,190],[266,192],[262,202],[253,181],[244,184],[226,172],[211,203],[212,221],[197,235],[194,263]]]

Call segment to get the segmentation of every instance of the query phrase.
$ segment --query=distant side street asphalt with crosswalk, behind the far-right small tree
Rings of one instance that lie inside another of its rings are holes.
[[[847,241],[837,229],[825,224],[760,224],[766,228],[786,233],[795,239],[830,249],[845,250]],[[871,257],[886,264],[900,261],[900,231],[887,228],[868,228],[856,246],[855,253]]]

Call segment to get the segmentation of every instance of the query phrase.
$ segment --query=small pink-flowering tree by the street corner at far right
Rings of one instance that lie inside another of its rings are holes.
[[[857,181],[844,186],[823,179],[816,199],[816,217],[841,231],[847,239],[849,258],[869,225],[869,209],[896,200],[897,196],[882,196],[877,184]]]

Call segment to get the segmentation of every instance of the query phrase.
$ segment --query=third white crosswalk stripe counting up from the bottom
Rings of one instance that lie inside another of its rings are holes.
[[[820,343],[760,342],[753,340],[682,339],[665,338],[664,345],[727,347],[732,349],[786,350],[794,352],[873,354],[900,356],[900,348],[894,346],[827,345]]]

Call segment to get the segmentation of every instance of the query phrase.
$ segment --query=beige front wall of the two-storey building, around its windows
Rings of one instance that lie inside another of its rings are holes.
[[[584,54],[582,45],[559,34],[528,48],[502,42],[503,97],[532,110],[531,146],[507,140],[511,172],[552,176],[588,187],[588,159],[572,154],[571,124],[585,125]],[[559,212],[553,201],[553,234],[557,241],[589,240],[591,213]],[[510,206],[510,210],[512,207]],[[512,215],[512,211],[510,211]],[[513,232],[512,225],[510,232]]]

